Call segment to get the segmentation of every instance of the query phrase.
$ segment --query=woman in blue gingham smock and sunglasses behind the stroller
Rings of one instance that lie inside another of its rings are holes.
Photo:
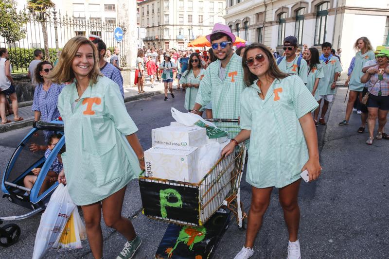
[[[50,122],[60,116],[57,108],[58,96],[65,85],[52,83],[50,79],[46,78],[51,70],[53,70],[53,66],[48,61],[40,62],[35,69],[35,81],[38,83],[35,87],[32,106],[32,110],[35,111],[35,121]],[[52,133],[45,131],[46,140]],[[32,151],[36,151],[36,147],[30,148]]]

